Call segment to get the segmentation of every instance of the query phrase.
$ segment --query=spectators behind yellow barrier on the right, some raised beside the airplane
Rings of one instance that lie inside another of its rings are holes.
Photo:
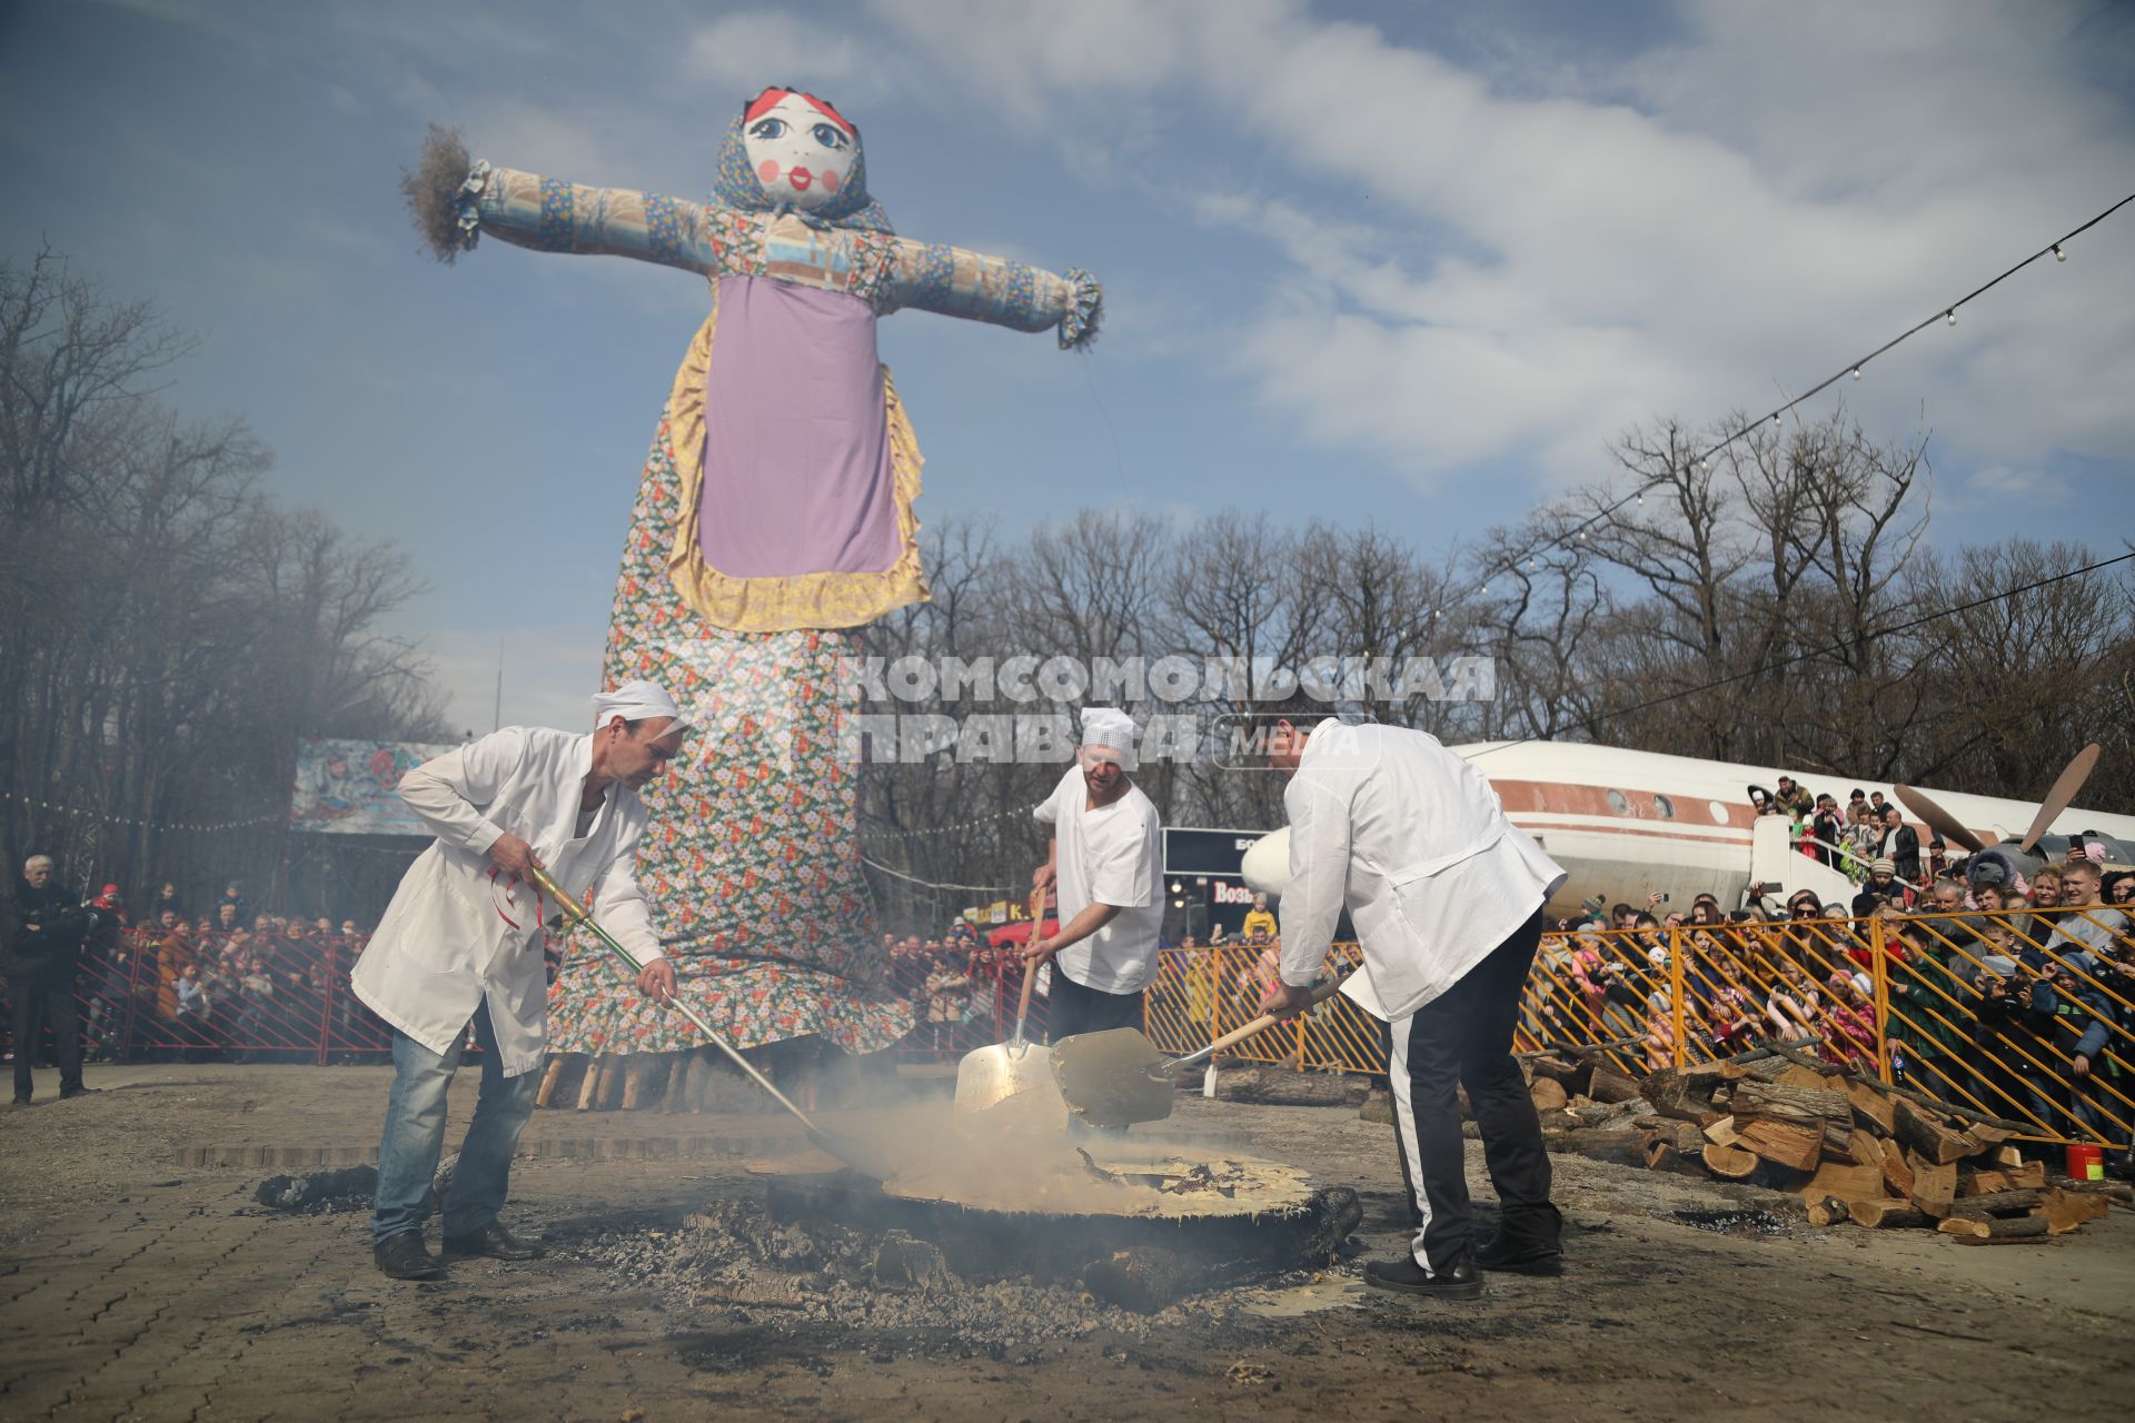
[[[1802,851],[1855,875],[1849,902],[1751,885],[1736,907],[1650,896],[1559,920],[1529,994],[1541,1041],[1610,1043],[1627,1067],[1798,1041],[1857,1071],[2054,1135],[2103,1139],[2129,1171],[2135,1124],[2135,870],[2101,836],[2060,862],[2005,849],[1945,860],[1898,806],[1838,811],[1789,779],[1759,813],[1808,828]],[[1832,836],[1832,830],[1838,830]],[[2024,873],[2024,870],[2030,873]],[[1883,996],[1877,994],[1877,945]],[[1680,979],[1672,958],[1682,954]]]

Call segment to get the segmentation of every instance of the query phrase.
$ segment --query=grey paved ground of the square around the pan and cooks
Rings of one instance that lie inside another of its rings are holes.
[[[668,1229],[711,1197],[756,1190],[741,1167],[784,1126],[544,1112],[510,1220],[547,1231],[559,1257],[395,1284],[369,1265],[361,1214],[250,1201],[273,1169],[263,1158],[367,1152],[384,1082],[382,1069],[92,1069],[107,1092],[0,1114],[0,1419],[1889,1423],[2122,1417],[2135,1387],[2126,1212],[1988,1250],[1853,1227],[1723,1235],[1676,1214],[1727,1208],[1714,1188],[1576,1158],[1559,1158],[1573,1220],[1563,1280],[1499,1278],[1480,1306],[1369,1297],[1298,1318],[1159,1316],[1140,1338],[1006,1361],[965,1357],[952,1338],[679,1329],[568,1244]],[[455,1122],[468,1105],[455,1099]],[[1202,1101],[1183,1101],[1179,1120],[1358,1186],[1364,1242],[1396,1240],[1383,1126]],[[679,1150],[692,1154],[660,1154]]]

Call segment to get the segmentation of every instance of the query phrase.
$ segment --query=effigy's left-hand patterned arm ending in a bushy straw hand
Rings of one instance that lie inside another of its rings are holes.
[[[418,166],[401,171],[401,192],[440,262],[489,233],[536,252],[630,256],[705,275],[722,269],[722,245],[700,203],[497,169],[472,160],[459,130],[436,124]]]

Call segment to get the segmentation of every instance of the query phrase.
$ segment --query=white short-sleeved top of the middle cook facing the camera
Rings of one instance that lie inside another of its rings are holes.
[[[1119,909],[1112,922],[1055,962],[1070,981],[1108,994],[1140,992],[1157,971],[1164,928],[1164,821],[1157,806],[1129,785],[1108,806],[1089,806],[1082,768],[1070,766],[1031,815],[1053,826],[1061,926],[1091,902]]]

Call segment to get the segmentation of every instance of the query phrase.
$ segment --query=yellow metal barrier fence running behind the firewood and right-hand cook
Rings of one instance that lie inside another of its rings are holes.
[[[1360,960],[1334,945],[1328,969]],[[1206,1048],[1260,1011],[1272,949],[1168,949],[1146,1033]],[[2135,1139],[2135,937],[2105,909],[1892,913],[1544,934],[1516,1050],[1588,1048],[1640,1077],[1821,1039],[1840,1067],[2020,1122],[2035,1141]],[[1232,1054],[1383,1073],[1379,1020],[1343,996]]]

